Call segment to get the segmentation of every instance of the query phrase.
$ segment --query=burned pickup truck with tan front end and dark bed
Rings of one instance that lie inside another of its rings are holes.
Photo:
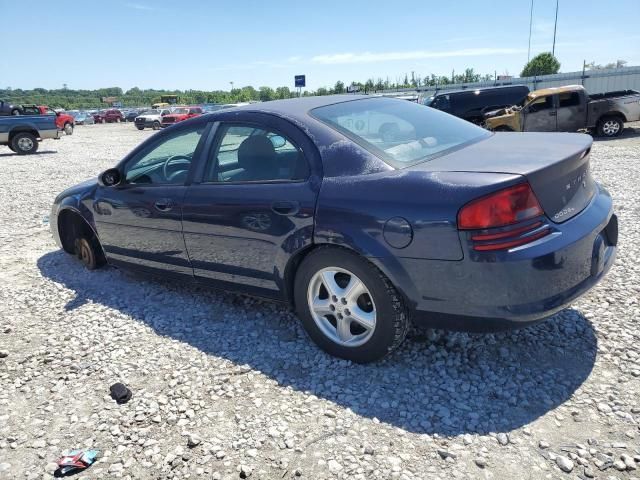
[[[592,130],[615,137],[624,122],[640,120],[640,92],[623,90],[588,95],[580,85],[531,92],[524,105],[514,105],[485,116],[485,127],[495,131],[575,132]]]

